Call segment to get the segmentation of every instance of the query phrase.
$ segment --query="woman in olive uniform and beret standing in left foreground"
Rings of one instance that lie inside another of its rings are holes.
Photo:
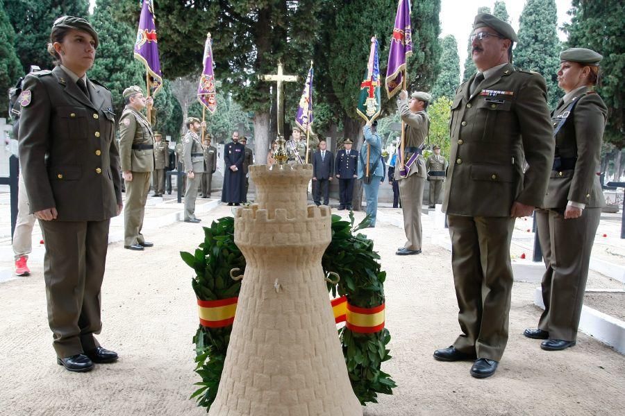
[[[110,218],[122,211],[112,97],[86,75],[98,43],[85,19],[57,19],[48,44],[56,67],[28,74],[19,97],[19,161],[44,235],[53,347],[72,372],[117,360],[94,338]]]

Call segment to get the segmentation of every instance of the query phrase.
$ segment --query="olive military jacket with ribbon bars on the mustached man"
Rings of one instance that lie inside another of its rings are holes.
[[[504,217],[515,201],[542,206],[554,148],[544,78],[507,64],[471,95],[474,78],[458,87],[451,105],[443,211]]]

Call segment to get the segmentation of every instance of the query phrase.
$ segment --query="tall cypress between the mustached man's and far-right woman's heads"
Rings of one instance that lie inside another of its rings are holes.
[[[519,44],[514,51],[515,66],[540,73],[547,82],[549,107],[560,98],[558,66],[558,14],[555,0],[528,0],[519,19]]]

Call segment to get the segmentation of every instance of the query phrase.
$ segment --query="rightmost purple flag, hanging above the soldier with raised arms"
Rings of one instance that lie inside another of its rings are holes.
[[[406,60],[410,54],[412,54],[410,0],[399,0],[386,69],[385,87],[388,98],[402,89],[406,79]]]

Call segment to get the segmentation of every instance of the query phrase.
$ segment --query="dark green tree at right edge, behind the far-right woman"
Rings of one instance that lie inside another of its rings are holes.
[[[603,55],[602,80],[597,92],[608,106],[605,139],[617,148],[625,148],[625,42],[622,0],[574,0],[569,10],[571,24],[567,47],[590,48]]]

